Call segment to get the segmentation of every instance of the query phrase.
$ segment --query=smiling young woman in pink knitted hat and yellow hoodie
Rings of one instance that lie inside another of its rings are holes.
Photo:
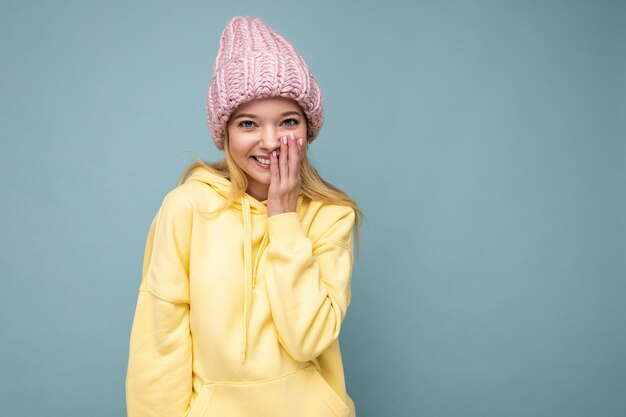
[[[338,337],[362,214],[307,159],[317,82],[272,28],[235,17],[207,118],[224,160],[189,166],[148,232],[128,416],[355,416]]]

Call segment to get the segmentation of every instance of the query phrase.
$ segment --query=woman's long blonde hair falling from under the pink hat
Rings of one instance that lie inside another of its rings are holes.
[[[235,201],[239,200],[248,189],[248,178],[230,155],[228,143],[228,131],[226,131],[224,133],[224,159],[218,162],[206,162],[199,156],[196,156],[196,162],[189,165],[178,180],[178,185],[181,185],[185,182],[189,174],[198,167],[204,167],[212,173],[226,178],[231,183],[231,189],[222,209],[230,207]],[[346,193],[325,181],[319,175],[306,154],[300,163],[300,189],[306,199],[348,206],[354,210],[356,214],[354,228],[358,251],[359,233],[364,217],[363,212],[356,202]]]

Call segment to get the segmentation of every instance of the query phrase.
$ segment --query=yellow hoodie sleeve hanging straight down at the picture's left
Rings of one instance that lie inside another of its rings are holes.
[[[192,392],[189,241],[193,209],[170,193],[146,242],[126,373],[128,417],[177,417]]]

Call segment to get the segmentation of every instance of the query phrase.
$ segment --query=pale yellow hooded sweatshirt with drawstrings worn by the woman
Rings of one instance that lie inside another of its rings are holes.
[[[148,232],[130,335],[129,417],[354,417],[339,331],[354,210],[307,201],[267,217],[196,168]]]

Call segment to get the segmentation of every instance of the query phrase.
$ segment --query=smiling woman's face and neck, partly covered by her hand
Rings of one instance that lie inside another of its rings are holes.
[[[270,157],[280,150],[280,138],[293,132],[306,143],[306,119],[296,101],[269,97],[237,107],[228,125],[228,150],[248,177],[248,194],[267,199],[270,185]]]

